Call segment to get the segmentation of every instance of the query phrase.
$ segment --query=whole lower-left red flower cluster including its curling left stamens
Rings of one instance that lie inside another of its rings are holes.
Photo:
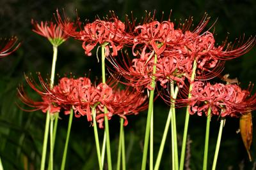
[[[61,78],[58,85],[51,89],[47,83],[39,76],[43,88],[36,85],[35,81],[26,80],[29,86],[42,97],[41,102],[33,101],[26,95],[22,87],[18,93],[20,100],[35,108],[50,113],[60,112],[61,108],[68,114],[70,108],[74,110],[76,117],[85,116],[89,122],[92,122],[92,108],[97,111],[96,120],[99,127],[103,127],[104,106],[107,108],[107,117],[110,119],[113,114],[119,115],[125,119],[125,115],[137,114],[139,111],[147,108],[146,98],[143,94],[131,90],[115,90],[104,83],[93,86],[89,78]],[[34,111],[32,110],[32,111]]]

